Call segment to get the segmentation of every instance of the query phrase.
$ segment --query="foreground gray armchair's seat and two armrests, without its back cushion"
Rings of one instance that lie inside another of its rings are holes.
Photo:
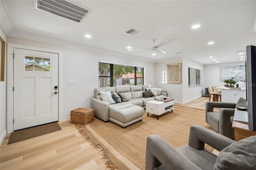
[[[234,140],[201,126],[191,126],[188,145],[174,148],[157,135],[146,145],[146,170],[213,170],[217,156],[204,150],[208,144],[220,151]]]

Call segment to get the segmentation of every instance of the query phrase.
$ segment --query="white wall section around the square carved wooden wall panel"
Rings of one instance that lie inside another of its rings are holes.
[[[176,103],[183,103],[183,89],[182,89],[182,84],[183,84],[183,80],[181,82],[181,84],[161,84],[161,71],[162,70],[166,70],[166,64],[172,64],[172,63],[179,63],[179,62],[183,62],[182,60],[175,60],[175,61],[170,61],[170,62],[160,62],[160,63],[156,63],[156,72],[155,72],[155,84],[154,87],[157,88],[162,88],[162,90],[165,90],[168,92],[168,96],[170,98],[173,98],[174,101]],[[183,69],[182,69],[182,77],[183,77]]]

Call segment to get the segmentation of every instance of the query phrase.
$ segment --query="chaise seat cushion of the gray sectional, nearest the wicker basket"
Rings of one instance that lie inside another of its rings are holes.
[[[128,123],[142,117],[144,109],[127,102],[109,105],[109,117],[121,123]]]

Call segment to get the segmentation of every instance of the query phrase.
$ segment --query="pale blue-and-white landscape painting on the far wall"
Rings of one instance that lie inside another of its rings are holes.
[[[246,81],[245,66],[226,66],[220,67],[220,81],[223,82],[226,79],[233,77],[235,80]]]

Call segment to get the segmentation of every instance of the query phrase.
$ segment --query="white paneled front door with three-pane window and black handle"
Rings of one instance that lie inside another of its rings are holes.
[[[14,130],[58,121],[58,54],[14,48],[13,76]]]

